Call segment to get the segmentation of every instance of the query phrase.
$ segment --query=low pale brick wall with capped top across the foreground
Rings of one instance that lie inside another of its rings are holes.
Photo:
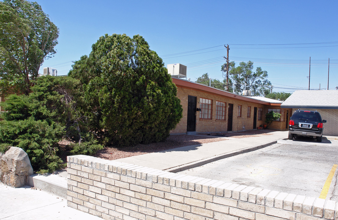
[[[113,220],[338,219],[335,201],[76,155],[67,204]]]

